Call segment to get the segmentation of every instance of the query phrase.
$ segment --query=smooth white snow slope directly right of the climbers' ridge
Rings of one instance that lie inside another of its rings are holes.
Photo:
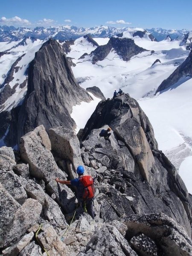
[[[185,80],[158,96],[140,99],[139,104],[154,128],[159,149],[176,163],[175,153],[180,152],[184,161],[179,174],[192,193],[192,79]]]

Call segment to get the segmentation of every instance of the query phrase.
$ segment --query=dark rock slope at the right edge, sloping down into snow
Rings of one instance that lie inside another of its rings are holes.
[[[183,61],[183,63],[180,64],[180,66],[177,67],[177,69],[167,79],[163,80],[157,88],[156,93],[176,84],[179,79],[185,78],[186,76],[192,76],[192,50],[186,60]]]

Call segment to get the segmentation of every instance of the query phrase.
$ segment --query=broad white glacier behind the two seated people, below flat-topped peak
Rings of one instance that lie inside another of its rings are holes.
[[[101,40],[102,41],[102,40]],[[113,50],[103,61],[91,63],[90,56],[76,61],[73,73],[76,78],[87,77],[81,87],[97,86],[106,98],[111,98],[113,91],[122,88],[125,93],[139,99],[154,91],[189,55],[185,47],[180,47],[180,41],[150,41],[148,38],[134,38],[135,43],[148,49],[123,61]],[[163,48],[164,45],[164,48]],[[154,53],[151,54],[151,50]],[[68,55],[67,55],[68,56]],[[161,63],[151,65],[159,59]]]

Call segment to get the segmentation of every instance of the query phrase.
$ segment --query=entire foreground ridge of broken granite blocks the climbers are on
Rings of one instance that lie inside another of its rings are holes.
[[[105,145],[99,132],[108,126]],[[15,155],[0,149],[1,255],[192,255],[191,195],[137,101],[102,100],[80,143],[61,126],[48,134],[41,125]],[[95,179],[94,221],[76,209],[75,188],[55,182],[76,177],[79,164]]]

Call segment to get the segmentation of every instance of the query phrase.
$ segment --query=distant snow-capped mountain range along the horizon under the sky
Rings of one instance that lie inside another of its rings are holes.
[[[19,27],[15,28],[14,26],[0,26],[0,42],[8,41],[18,41],[24,37],[34,37],[40,40],[48,40],[49,38],[54,38],[58,40],[70,40],[77,39],[82,35],[90,34],[92,37],[100,38],[111,38],[114,35],[117,35],[122,32],[129,32],[133,28],[115,28],[111,26],[97,26],[92,28],[79,28],[76,26],[60,26],[60,27],[36,27],[24,28]],[[139,29],[138,29],[139,30]],[[166,38],[167,35],[170,35],[172,39],[181,38],[183,35],[187,34],[189,31],[186,29],[177,30],[177,29],[162,29],[162,28],[152,28],[145,29],[147,32],[152,34],[157,41],[161,41]]]

